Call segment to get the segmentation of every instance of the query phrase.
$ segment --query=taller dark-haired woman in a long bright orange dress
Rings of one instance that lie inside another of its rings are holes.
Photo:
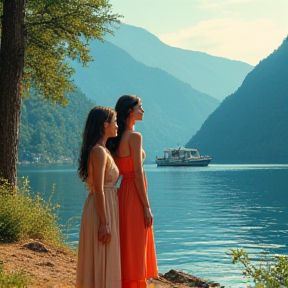
[[[145,152],[142,135],[133,130],[144,110],[134,95],[121,96],[115,110],[118,136],[109,139],[107,147],[123,176],[118,190],[122,288],[144,288],[148,279],[158,276],[153,215],[143,172]]]

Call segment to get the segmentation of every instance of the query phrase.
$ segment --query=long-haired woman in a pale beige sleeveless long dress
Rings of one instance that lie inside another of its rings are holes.
[[[119,171],[105,147],[117,136],[114,110],[93,108],[87,118],[78,174],[87,183],[79,235],[76,288],[121,288]]]

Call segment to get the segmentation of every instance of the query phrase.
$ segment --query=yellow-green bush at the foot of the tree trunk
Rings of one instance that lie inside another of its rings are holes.
[[[16,242],[22,239],[40,239],[55,246],[63,246],[63,235],[58,227],[56,209],[51,198],[48,201],[31,192],[28,179],[23,178],[14,193],[7,181],[0,185],[0,242]]]

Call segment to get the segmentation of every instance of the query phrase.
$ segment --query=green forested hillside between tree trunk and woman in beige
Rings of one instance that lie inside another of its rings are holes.
[[[52,104],[32,93],[22,100],[19,162],[72,163],[79,157],[81,136],[91,100],[76,89],[68,105]]]

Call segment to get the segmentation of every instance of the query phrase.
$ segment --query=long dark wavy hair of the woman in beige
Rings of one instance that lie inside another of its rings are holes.
[[[116,112],[108,107],[96,106],[88,114],[84,132],[83,142],[78,160],[78,175],[85,182],[88,177],[88,158],[92,148],[104,135],[104,123],[110,123]]]

